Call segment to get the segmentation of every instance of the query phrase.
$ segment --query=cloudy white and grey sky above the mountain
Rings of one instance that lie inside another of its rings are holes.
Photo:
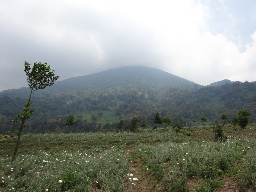
[[[255,81],[255,0],[1,0],[0,91],[24,62],[59,80],[143,65],[200,85]]]

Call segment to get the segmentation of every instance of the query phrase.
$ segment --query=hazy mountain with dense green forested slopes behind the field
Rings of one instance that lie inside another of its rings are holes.
[[[225,83],[225,84],[224,84]],[[223,85],[224,84],[224,85]],[[213,86],[216,85],[216,86]],[[0,133],[9,130],[10,120],[21,113],[29,88],[0,92]],[[134,116],[153,125],[156,111],[172,122],[191,126],[192,119],[200,124],[200,116],[228,118],[246,108],[256,122],[256,82],[220,81],[211,86],[194,82],[148,67],[122,67],[66,79],[32,95],[33,116],[25,132],[64,130],[68,114],[78,122],[72,132],[116,129],[117,122],[130,121]]]

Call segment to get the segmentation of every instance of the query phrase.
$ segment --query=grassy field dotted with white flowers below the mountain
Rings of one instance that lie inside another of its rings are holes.
[[[15,137],[0,135],[0,191],[255,191],[256,127],[139,129],[135,133],[26,134],[10,162]]]

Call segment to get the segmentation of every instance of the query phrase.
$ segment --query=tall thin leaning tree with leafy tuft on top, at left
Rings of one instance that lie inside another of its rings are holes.
[[[25,61],[24,66],[25,66],[24,71],[26,72],[28,85],[30,87],[30,94],[29,94],[27,103],[25,104],[25,107],[23,109],[23,113],[22,114],[18,113],[15,119],[11,120],[11,123],[13,125],[17,125],[19,128],[18,134],[17,134],[18,135],[17,143],[15,146],[11,161],[13,161],[18,151],[22,130],[25,126],[27,126],[25,124],[25,121],[28,120],[33,115],[33,112],[34,112],[33,109],[30,109],[30,105],[33,104],[31,102],[31,95],[33,94],[33,91],[36,91],[38,89],[44,89],[47,86],[51,86],[59,78],[58,75],[54,74],[54,70],[51,71],[50,65],[47,66],[47,63],[44,63],[44,64],[41,64],[41,62],[34,63],[31,69],[30,64]],[[21,122],[19,121],[19,119],[21,120]]]

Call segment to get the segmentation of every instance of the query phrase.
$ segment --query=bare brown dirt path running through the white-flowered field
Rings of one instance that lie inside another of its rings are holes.
[[[132,149],[126,149],[127,158],[130,156]],[[124,180],[124,192],[163,192],[163,185],[157,182],[154,173],[147,170],[146,165],[142,165],[139,159],[129,162],[129,176],[126,175]],[[131,176],[132,175],[132,176]],[[131,178],[131,180],[129,179]],[[137,178],[138,180],[134,180]],[[134,183],[134,184],[132,184]]]

